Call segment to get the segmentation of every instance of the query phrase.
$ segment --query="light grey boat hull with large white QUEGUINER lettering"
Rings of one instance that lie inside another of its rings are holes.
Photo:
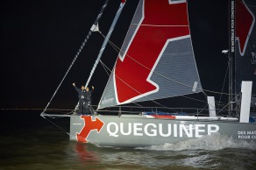
[[[70,139],[104,146],[139,147],[173,144],[191,138],[221,134],[256,141],[256,124],[236,118],[180,116],[183,119],[136,115],[70,117]],[[215,120],[214,120],[215,119]]]

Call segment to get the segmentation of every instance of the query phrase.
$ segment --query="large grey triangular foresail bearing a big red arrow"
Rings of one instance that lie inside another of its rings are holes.
[[[202,91],[184,0],[140,0],[98,109]]]

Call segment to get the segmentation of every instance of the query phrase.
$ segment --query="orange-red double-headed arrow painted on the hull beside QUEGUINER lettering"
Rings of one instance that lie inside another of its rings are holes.
[[[81,116],[84,119],[84,126],[80,133],[76,133],[77,141],[87,143],[86,138],[89,135],[89,132],[92,130],[96,130],[98,132],[103,128],[103,121],[101,121],[98,117],[93,121],[90,116]]]

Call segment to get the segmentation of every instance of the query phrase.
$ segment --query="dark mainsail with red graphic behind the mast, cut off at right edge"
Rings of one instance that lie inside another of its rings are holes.
[[[235,4],[235,87],[240,92],[241,81],[252,81],[252,95],[256,95],[256,2],[237,0]]]

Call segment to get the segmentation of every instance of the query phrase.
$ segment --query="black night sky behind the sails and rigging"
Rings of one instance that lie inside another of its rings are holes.
[[[196,64],[203,89],[221,91],[227,67],[228,1],[189,0],[188,15]],[[45,108],[75,57],[104,0],[6,1],[0,15],[0,108]],[[110,40],[121,47],[138,0],[127,0]],[[107,34],[120,1],[110,0],[99,27]],[[49,108],[73,109],[72,86],[85,84],[103,43],[94,32]],[[117,52],[108,45],[103,62],[112,67]],[[185,69],[185,68],[184,68]],[[101,65],[89,87],[97,104],[108,81]]]

